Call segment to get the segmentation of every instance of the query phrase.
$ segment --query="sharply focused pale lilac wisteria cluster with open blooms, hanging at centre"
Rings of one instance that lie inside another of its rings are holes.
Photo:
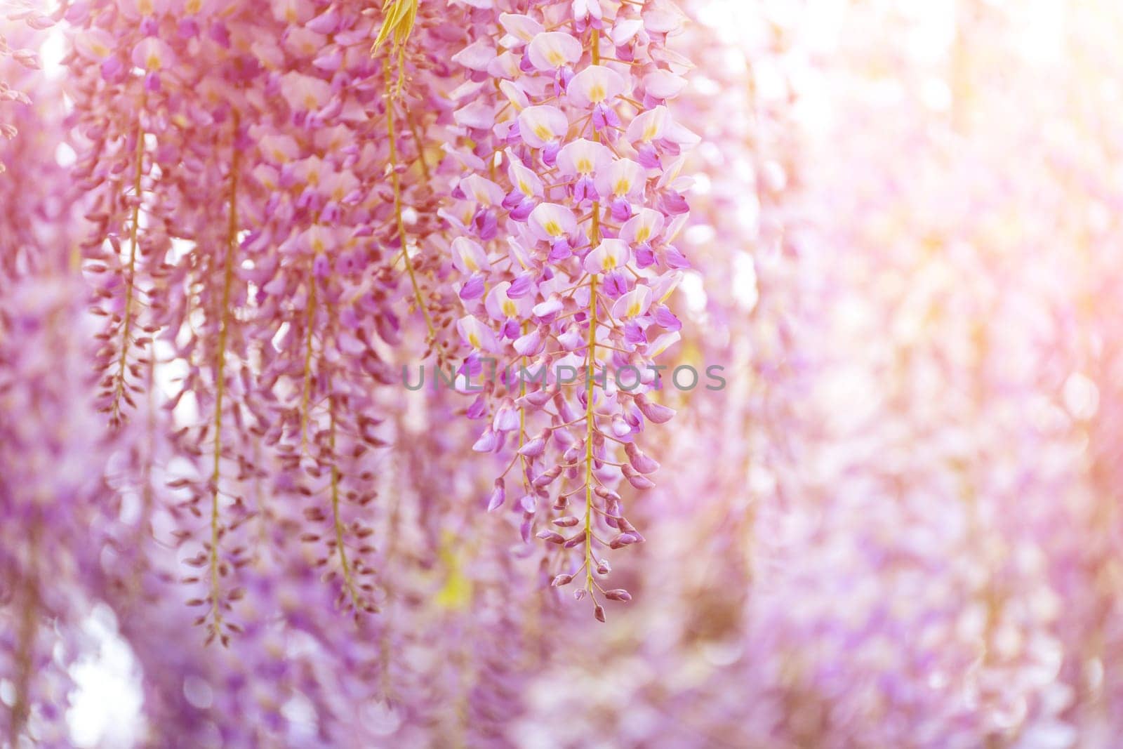
[[[510,494],[523,538],[559,547],[553,584],[581,578],[576,597],[604,620],[600,600],[630,599],[597,582],[606,551],[643,540],[622,487],[654,485],[639,438],[673,414],[655,392],[690,267],[675,241],[697,137],[668,108],[690,67],[667,46],[684,17],[659,2],[519,11],[474,13],[453,57],[471,71],[453,92],[449,158],[465,174],[441,210],[471,349],[457,374],[465,390],[484,382],[474,449],[512,456],[487,509]]]

